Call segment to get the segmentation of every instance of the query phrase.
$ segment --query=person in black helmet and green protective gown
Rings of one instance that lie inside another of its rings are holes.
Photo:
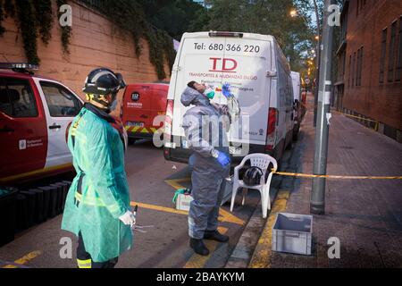
[[[62,229],[77,235],[79,268],[110,268],[132,244],[130,192],[124,171],[124,147],[109,115],[120,74],[91,71],[83,88],[88,103],[71,123],[68,147],[77,172],[69,190]]]

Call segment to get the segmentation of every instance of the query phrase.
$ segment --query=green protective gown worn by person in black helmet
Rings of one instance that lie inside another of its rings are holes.
[[[62,229],[77,236],[81,233],[94,262],[119,257],[132,244],[130,225],[119,220],[130,209],[130,192],[124,147],[112,121],[86,104],[71,123],[68,136],[77,176],[66,199]]]

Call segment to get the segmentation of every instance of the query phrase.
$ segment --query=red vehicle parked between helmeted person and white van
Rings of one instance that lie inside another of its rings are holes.
[[[163,134],[163,121],[169,89],[168,83],[136,83],[126,87],[122,98],[121,121],[129,136],[129,143],[136,139],[152,139],[155,132]]]

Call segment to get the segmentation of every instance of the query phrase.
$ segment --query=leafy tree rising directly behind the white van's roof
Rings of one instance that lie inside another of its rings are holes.
[[[272,35],[289,58],[291,68],[303,68],[301,53],[312,46],[314,32],[303,18],[289,16],[295,7],[293,0],[214,0],[213,4],[205,29]]]

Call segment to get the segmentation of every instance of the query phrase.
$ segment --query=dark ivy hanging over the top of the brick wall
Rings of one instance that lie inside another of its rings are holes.
[[[1,23],[5,16],[13,17],[21,30],[22,42],[29,63],[39,63],[37,38],[47,45],[52,37],[54,15],[52,0],[0,0],[0,36],[4,33]],[[89,7],[105,15],[121,31],[129,33],[134,40],[134,51],[139,57],[142,54],[141,38],[147,40],[149,60],[155,66],[159,80],[165,79],[165,61],[172,65],[176,52],[172,38],[162,29],[157,29],[147,21],[142,7],[134,0],[80,0]],[[62,16],[60,7],[68,4],[67,0],[57,0],[57,16]],[[33,15],[33,16],[32,16]],[[70,54],[71,27],[61,27],[63,53]]]

